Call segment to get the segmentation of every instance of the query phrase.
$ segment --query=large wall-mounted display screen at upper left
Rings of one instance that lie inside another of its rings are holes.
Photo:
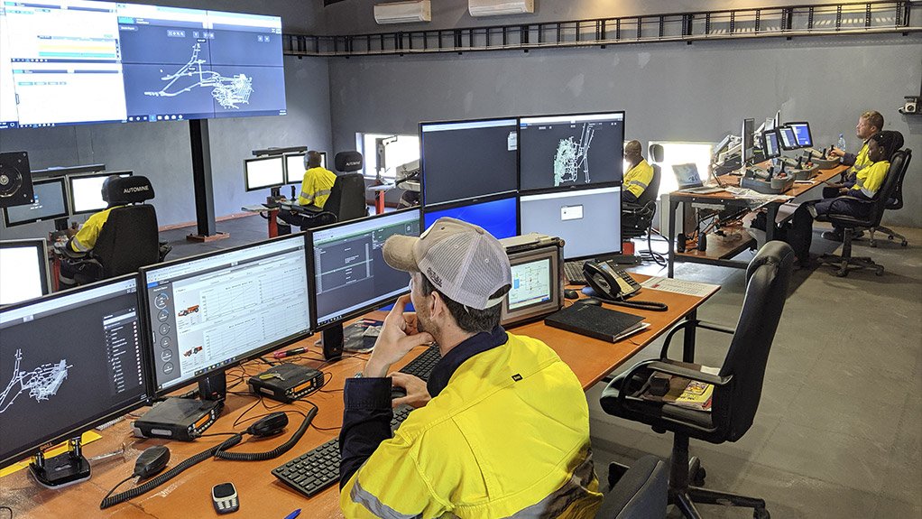
[[[0,128],[285,108],[281,18],[91,0],[0,5]]]

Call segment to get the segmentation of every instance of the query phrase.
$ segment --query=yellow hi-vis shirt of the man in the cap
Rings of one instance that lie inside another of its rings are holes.
[[[340,493],[346,517],[594,517],[602,496],[579,381],[538,339],[465,360]]]

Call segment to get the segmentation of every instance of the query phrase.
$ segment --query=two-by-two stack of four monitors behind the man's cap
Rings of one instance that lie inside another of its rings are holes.
[[[421,123],[420,147],[424,227],[451,217],[560,237],[566,259],[621,253],[624,112]]]

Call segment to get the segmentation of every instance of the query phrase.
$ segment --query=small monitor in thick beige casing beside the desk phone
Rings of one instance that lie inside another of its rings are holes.
[[[519,324],[561,309],[563,277],[556,245],[509,254],[513,286],[502,301],[502,325]]]

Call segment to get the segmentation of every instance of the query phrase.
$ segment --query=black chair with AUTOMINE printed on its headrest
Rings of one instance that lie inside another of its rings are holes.
[[[103,184],[102,199],[112,209],[89,254],[71,254],[66,260],[78,272],[74,280],[84,285],[137,272],[145,265],[162,261],[166,255],[159,241],[157,211],[145,204],[154,197],[154,186],[141,175],[111,177]],[[77,257],[74,257],[77,256]]]

